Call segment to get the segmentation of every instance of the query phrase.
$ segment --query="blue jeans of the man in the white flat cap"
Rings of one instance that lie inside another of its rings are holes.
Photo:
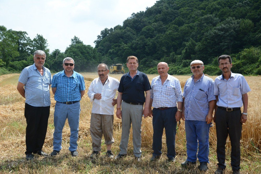
[[[206,121],[185,120],[187,161],[209,163],[209,129]],[[199,146],[198,146],[199,145]],[[198,156],[197,156],[198,151]]]

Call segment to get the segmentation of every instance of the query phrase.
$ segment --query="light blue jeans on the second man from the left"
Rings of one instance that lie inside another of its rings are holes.
[[[54,150],[60,151],[62,149],[62,130],[66,119],[68,119],[71,132],[69,150],[72,152],[77,149],[80,111],[80,102],[71,105],[56,102],[54,110]]]

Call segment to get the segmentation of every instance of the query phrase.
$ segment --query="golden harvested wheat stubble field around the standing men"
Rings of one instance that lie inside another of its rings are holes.
[[[97,77],[96,73],[82,73],[85,77],[86,89],[91,81]],[[121,75],[112,74],[120,80]],[[156,74],[149,75],[151,82]],[[180,80],[183,88],[189,76],[175,76]],[[186,136],[184,122],[178,128],[176,135],[176,162],[168,163],[166,160],[167,147],[163,134],[163,155],[157,162],[149,162],[152,155],[152,119],[146,118],[142,122],[142,162],[137,163],[133,156],[132,133],[130,134],[128,156],[121,161],[111,161],[105,158],[106,145],[102,142],[102,154],[95,161],[89,157],[92,153],[92,140],[90,136],[90,115],[92,103],[87,94],[81,100],[81,114],[78,139],[78,157],[71,157],[69,147],[70,130],[68,122],[63,129],[63,149],[57,157],[41,157],[33,161],[25,160],[25,128],[24,117],[25,99],[16,90],[19,74],[7,74],[0,76],[0,173],[214,173],[216,170],[216,132],[215,124],[210,129],[210,155],[209,170],[200,172],[196,167],[183,168],[180,163],[186,160]],[[215,79],[214,76],[211,78]],[[241,173],[261,172],[261,115],[260,99],[261,77],[246,77],[251,92],[248,93],[248,120],[243,124],[241,138]],[[51,92],[51,91],[50,91]],[[87,91],[86,91],[87,92]],[[55,100],[51,93],[51,113],[48,122],[48,130],[43,150],[52,152],[54,132],[53,113]],[[115,110],[116,112],[116,110]],[[112,152],[119,152],[121,140],[121,120],[114,116],[114,138]],[[131,131],[132,132],[132,131]],[[227,143],[227,154],[230,154],[230,142]],[[227,169],[225,173],[231,173],[230,155],[226,157]],[[198,163],[199,164],[199,163]],[[198,165],[197,164],[197,165]]]

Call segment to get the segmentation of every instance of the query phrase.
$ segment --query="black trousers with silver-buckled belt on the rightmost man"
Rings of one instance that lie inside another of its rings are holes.
[[[226,168],[226,141],[229,135],[231,143],[231,166],[232,170],[240,169],[240,138],[242,123],[240,122],[241,111],[225,111],[220,108],[216,113],[217,131],[217,160],[218,167]]]

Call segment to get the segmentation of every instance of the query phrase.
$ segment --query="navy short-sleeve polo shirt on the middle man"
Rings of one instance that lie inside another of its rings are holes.
[[[144,103],[144,91],[151,89],[149,79],[146,74],[137,70],[136,77],[132,80],[129,72],[121,77],[119,92],[122,92],[122,100],[133,103]]]

